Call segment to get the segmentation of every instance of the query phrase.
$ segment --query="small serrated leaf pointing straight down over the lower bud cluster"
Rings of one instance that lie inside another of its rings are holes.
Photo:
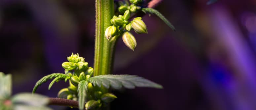
[[[78,105],[79,109],[83,110],[85,108],[85,99],[86,99],[86,93],[88,90],[88,82],[86,80],[82,80],[78,84]]]

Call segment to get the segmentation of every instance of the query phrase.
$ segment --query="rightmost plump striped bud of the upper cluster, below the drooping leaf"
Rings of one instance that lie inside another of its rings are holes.
[[[136,17],[131,21],[131,27],[135,33],[148,33],[146,24],[141,20],[141,17]]]

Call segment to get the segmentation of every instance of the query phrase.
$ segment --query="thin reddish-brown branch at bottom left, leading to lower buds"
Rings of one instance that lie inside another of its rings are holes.
[[[60,106],[71,106],[78,108],[78,101],[61,99],[61,98],[49,98],[50,102],[48,105],[60,105]]]

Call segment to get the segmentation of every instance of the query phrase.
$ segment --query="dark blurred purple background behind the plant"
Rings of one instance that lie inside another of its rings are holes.
[[[164,89],[115,90],[111,110],[256,110],[256,1],[164,0],[158,7],[176,32],[145,15],[148,34],[137,48],[116,45],[113,74],[138,75]],[[13,75],[13,93],[63,73],[79,53],[93,66],[93,0],[0,0],[0,71]],[[57,97],[60,81],[37,93]],[[52,106],[55,110],[69,107]]]

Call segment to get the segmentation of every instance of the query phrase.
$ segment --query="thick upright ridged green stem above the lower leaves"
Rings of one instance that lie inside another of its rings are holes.
[[[94,76],[110,74],[116,40],[109,42],[104,36],[114,15],[114,0],[95,0],[96,30]]]

